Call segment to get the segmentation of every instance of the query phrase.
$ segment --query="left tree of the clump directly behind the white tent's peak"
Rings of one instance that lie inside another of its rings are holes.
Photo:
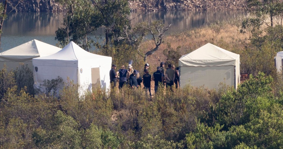
[[[90,0],[58,0],[66,6],[67,12],[62,22],[62,27],[56,31],[55,40],[60,47],[64,47],[70,41],[89,51],[94,40],[88,37],[101,25],[101,19]]]

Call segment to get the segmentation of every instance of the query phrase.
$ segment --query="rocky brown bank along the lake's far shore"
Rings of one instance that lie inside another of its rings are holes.
[[[5,0],[0,0],[4,3]],[[18,0],[9,0],[8,9],[17,4]],[[129,0],[132,11],[203,11],[203,10],[238,10],[244,9],[245,0]],[[58,12],[64,7],[54,0],[24,0],[15,10],[17,12]]]

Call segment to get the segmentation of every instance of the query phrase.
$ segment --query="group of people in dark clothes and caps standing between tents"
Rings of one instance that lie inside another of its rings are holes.
[[[110,70],[110,83],[111,88],[116,86],[117,79],[119,78],[119,89],[124,87],[125,85],[129,85],[130,88],[139,88],[141,87],[141,83],[144,84],[144,89],[148,89],[149,95],[151,96],[151,80],[154,81],[154,91],[157,92],[159,86],[166,85],[166,88],[170,88],[173,91],[172,86],[175,83],[176,89],[178,88],[178,84],[180,82],[179,75],[179,67],[168,64],[168,68],[164,71],[164,62],[160,63],[160,66],[157,67],[157,71],[153,73],[151,76],[149,74],[149,64],[146,63],[144,65],[144,75],[141,77],[139,71],[134,70],[131,64],[128,65],[128,69],[125,66],[121,66],[117,72],[115,69],[116,65],[112,65],[112,69]],[[118,76],[119,75],[119,76]]]

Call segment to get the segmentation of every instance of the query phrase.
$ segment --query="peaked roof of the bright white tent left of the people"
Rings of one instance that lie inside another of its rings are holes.
[[[52,55],[35,59],[56,59],[56,60],[88,60],[93,58],[103,58],[107,56],[89,53],[80,48],[75,42],[71,41],[62,50]],[[108,57],[107,57],[108,58]]]

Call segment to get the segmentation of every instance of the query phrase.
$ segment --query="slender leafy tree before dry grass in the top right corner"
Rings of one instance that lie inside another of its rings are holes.
[[[251,17],[242,22],[241,33],[249,33],[251,43],[257,47],[268,41],[283,47],[283,1],[247,0]]]

